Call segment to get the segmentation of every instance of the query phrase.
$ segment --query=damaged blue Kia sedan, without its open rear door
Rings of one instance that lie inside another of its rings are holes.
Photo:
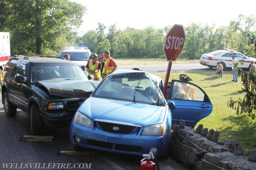
[[[166,154],[172,113],[156,84],[160,79],[123,69],[107,76],[80,105],[71,122],[69,138],[74,149]]]

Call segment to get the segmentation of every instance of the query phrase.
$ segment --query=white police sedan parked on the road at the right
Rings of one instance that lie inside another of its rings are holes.
[[[232,67],[232,65],[229,65],[232,63],[232,55],[236,56],[236,59],[239,61],[238,67],[241,68],[250,69],[250,61],[254,60],[254,62],[256,62],[255,58],[250,56],[247,57],[242,53],[225,48],[224,50],[217,50],[211,53],[203,54],[200,59],[200,64],[213,68],[217,66],[217,62],[220,62],[225,70],[226,67]]]

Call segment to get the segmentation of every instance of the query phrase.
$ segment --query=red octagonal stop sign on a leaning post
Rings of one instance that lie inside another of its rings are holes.
[[[167,61],[175,61],[183,50],[185,32],[183,25],[175,24],[166,35],[164,53]]]

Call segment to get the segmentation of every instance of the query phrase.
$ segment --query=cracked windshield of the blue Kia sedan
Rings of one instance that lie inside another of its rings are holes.
[[[113,74],[106,77],[93,97],[164,106],[162,92],[144,73]]]

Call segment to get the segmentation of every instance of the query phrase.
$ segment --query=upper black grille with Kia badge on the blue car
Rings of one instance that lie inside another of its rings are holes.
[[[117,134],[130,134],[136,128],[136,126],[129,126],[124,124],[114,124],[108,122],[97,122],[102,131],[117,133]]]

